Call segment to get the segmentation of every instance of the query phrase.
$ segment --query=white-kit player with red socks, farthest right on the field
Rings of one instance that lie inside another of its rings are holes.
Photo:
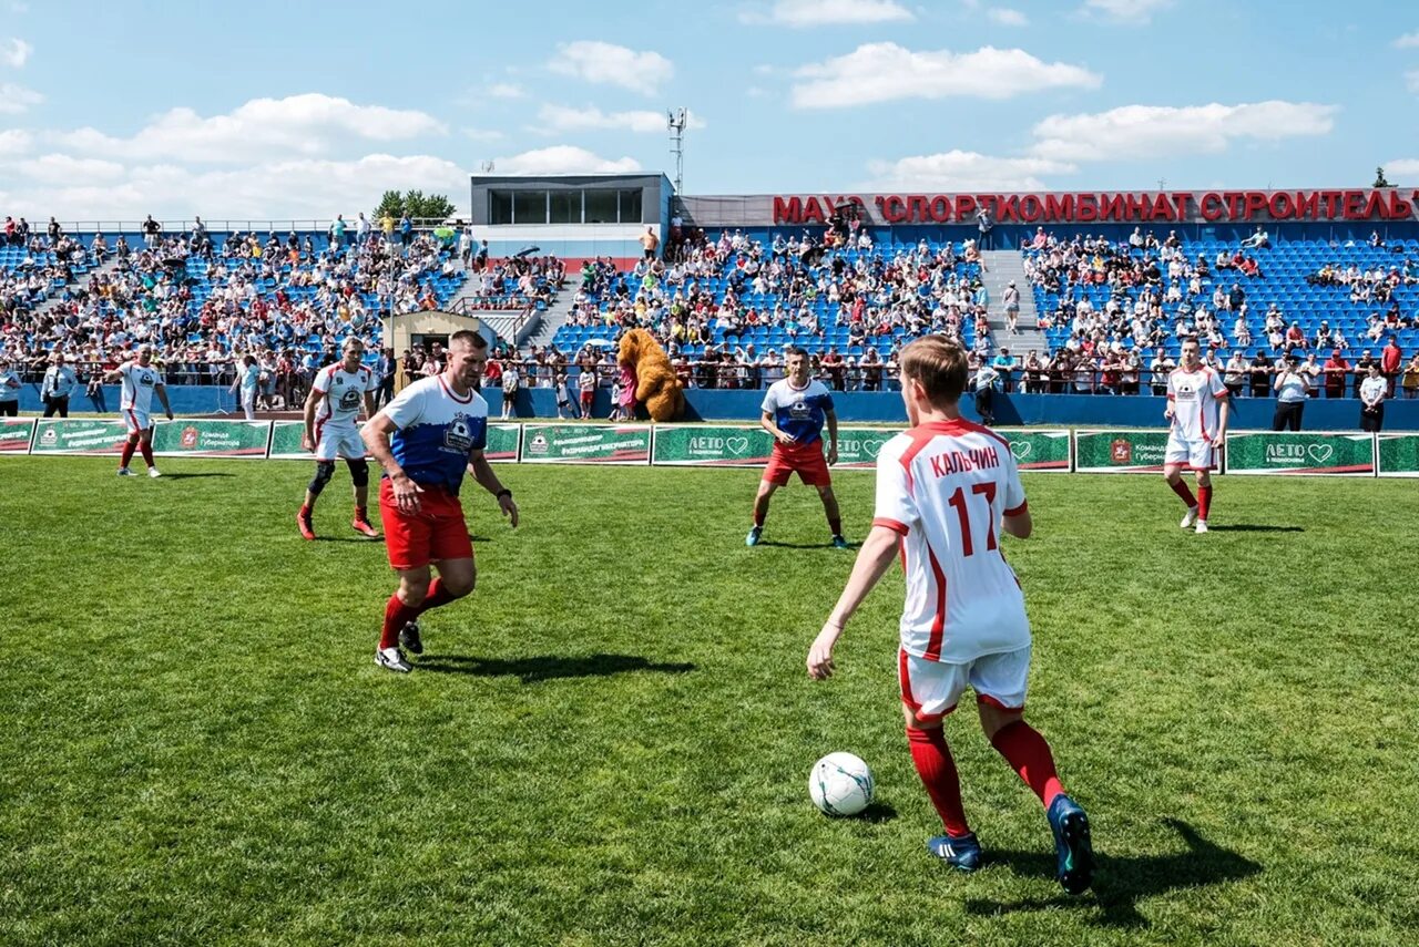
[[[1185,339],[1181,363],[1168,374],[1168,408],[1164,417],[1172,427],[1168,431],[1162,475],[1188,508],[1182,516],[1182,527],[1196,525],[1199,533],[1206,533],[1208,512],[1212,508],[1212,471],[1218,469],[1218,451],[1227,435],[1232,401],[1222,374],[1202,364],[1199,350],[1196,339]],[[1198,475],[1196,498],[1182,479],[1183,468]]]

